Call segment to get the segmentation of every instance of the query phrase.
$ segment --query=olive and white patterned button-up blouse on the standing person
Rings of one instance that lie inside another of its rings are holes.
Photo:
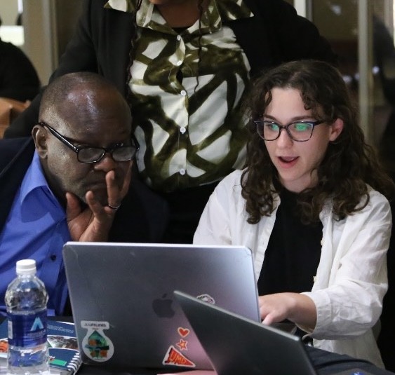
[[[134,12],[135,3],[106,7]],[[176,30],[142,0],[128,86],[138,169],[153,189],[208,184],[242,168],[247,119],[240,107],[250,64],[224,23],[252,16],[243,0],[210,0],[200,21]]]

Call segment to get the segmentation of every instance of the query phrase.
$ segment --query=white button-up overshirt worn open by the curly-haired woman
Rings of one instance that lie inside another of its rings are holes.
[[[241,170],[232,172],[210,196],[194,235],[196,244],[245,245],[254,254],[258,280],[272,233],[276,210],[248,224],[241,196]],[[382,194],[370,189],[370,203],[336,221],[330,201],[320,214],[321,259],[311,292],[317,321],[314,346],[369,360],[384,367],[372,327],[380,318],[387,292],[386,254],[391,236],[391,209]]]

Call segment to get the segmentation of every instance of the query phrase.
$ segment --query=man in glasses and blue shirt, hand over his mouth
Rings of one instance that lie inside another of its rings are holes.
[[[19,259],[36,259],[48,310],[60,315],[67,301],[67,241],[161,238],[149,218],[155,212],[164,220],[166,207],[144,185],[130,184],[138,150],[131,122],[112,83],[72,73],[46,88],[32,137],[1,140],[0,313]]]

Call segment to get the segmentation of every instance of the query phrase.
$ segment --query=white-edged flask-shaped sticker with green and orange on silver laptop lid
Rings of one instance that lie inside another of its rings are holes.
[[[96,362],[108,361],[114,354],[114,344],[104,333],[109,323],[81,320],[81,327],[88,330],[82,340],[83,353]]]

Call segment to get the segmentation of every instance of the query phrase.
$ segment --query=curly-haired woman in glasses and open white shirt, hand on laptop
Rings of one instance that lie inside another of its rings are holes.
[[[194,243],[253,251],[263,323],[291,320],[314,346],[383,367],[372,327],[388,286],[394,184],[342,76],[288,62],[255,81],[246,105],[246,168],[217,186]]]

